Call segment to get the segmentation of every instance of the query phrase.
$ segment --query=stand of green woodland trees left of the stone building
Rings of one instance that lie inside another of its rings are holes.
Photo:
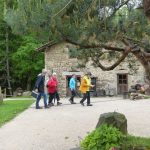
[[[44,66],[44,55],[34,52],[40,42],[31,35],[13,34],[5,21],[8,9],[15,9],[16,2],[0,1],[0,86],[7,89],[7,95],[12,95],[12,91],[18,87],[31,90],[36,75]]]

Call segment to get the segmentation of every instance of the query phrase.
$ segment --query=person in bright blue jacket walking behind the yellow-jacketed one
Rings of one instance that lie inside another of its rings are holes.
[[[70,79],[69,88],[71,90],[71,97],[70,97],[69,101],[71,104],[76,104],[74,102],[74,97],[76,96],[76,76],[74,74],[72,75],[72,77]]]

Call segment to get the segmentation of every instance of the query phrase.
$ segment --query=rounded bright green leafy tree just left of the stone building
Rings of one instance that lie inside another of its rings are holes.
[[[22,45],[12,54],[12,61],[14,63],[12,66],[16,80],[32,82],[35,76],[41,72],[44,66],[44,55],[35,51],[39,46],[40,44],[37,40],[31,36],[26,36],[23,38]],[[24,83],[24,86],[26,84]]]

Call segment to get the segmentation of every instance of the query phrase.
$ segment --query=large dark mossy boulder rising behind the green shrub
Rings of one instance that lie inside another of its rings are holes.
[[[101,114],[96,128],[102,124],[112,125],[118,128],[123,134],[127,134],[127,119],[125,115],[121,113],[109,112]]]

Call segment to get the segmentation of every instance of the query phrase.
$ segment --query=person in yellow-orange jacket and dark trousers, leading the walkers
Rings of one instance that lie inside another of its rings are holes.
[[[92,106],[90,102],[90,88],[94,87],[94,85],[91,84],[91,72],[86,73],[83,78],[81,79],[81,85],[79,90],[83,94],[83,98],[80,101],[80,104],[84,106],[84,101],[87,99],[87,106]]]

